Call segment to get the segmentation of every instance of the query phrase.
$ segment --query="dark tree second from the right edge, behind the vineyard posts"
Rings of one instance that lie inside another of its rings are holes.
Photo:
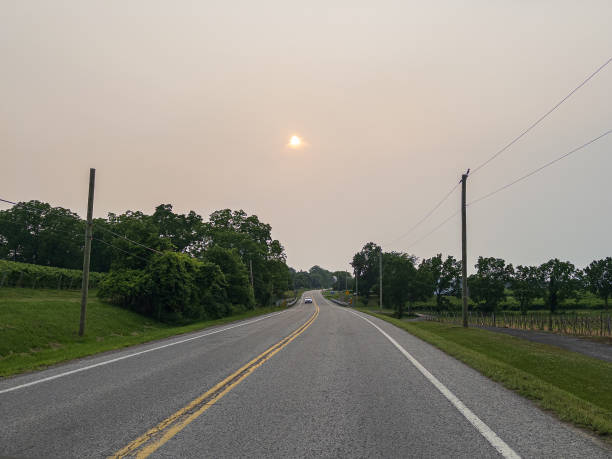
[[[554,314],[559,303],[573,296],[579,287],[576,268],[569,261],[554,258],[542,264],[539,271],[544,285],[544,302]]]

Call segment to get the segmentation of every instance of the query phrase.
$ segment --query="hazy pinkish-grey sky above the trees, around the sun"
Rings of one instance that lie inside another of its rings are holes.
[[[84,215],[95,167],[96,216],[242,208],[291,266],[346,269],[609,59],[611,18],[609,0],[0,0],[0,197]],[[612,64],[468,200],[610,128]],[[611,173],[609,135],[469,207],[469,264],[612,255]],[[386,249],[458,256],[458,217],[413,245],[458,191]]]

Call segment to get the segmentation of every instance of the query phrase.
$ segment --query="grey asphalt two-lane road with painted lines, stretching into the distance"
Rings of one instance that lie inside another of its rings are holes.
[[[0,381],[0,456],[611,457],[406,332],[307,295]]]

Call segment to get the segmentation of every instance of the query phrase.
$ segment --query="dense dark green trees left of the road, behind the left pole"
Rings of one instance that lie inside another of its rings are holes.
[[[68,209],[21,202],[0,211],[0,259],[80,269],[84,231]],[[170,204],[152,215],[109,213],[94,220],[91,270],[109,273],[100,294],[122,306],[162,319],[221,316],[271,304],[293,287],[271,231],[242,210],[219,210],[208,221]]]

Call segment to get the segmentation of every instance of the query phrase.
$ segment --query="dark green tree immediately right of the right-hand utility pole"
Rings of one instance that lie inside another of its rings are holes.
[[[476,274],[470,276],[470,298],[483,312],[493,312],[506,298],[505,288],[513,272],[512,265],[506,265],[501,258],[478,257]]]

